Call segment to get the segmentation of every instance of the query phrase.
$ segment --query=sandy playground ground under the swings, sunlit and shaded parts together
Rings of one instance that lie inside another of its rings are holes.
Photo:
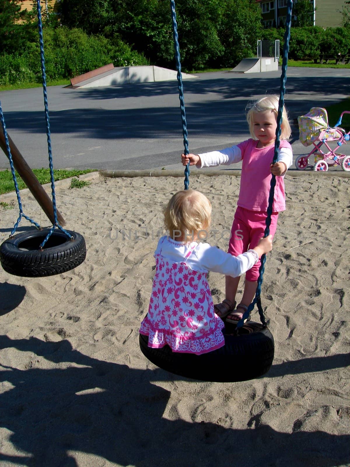
[[[350,179],[303,175],[285,178],[287,211],[266,261],[273,366],[235,383],[175,376],[140,352],[161,209],[182,180],[57,188],[87,257],[39,279],[0,269],[0,465],[349,466]],[[226,250],[239,177],[191,176],[190,187],[210,198],[209,241]],[[22,203],[49,225],[32,195]],[[0,207],[1,240],[17,216],[16,204]],[[18,232],[27,228],[22,220]],[[210,273],[209,283],[221,301],[224,277]]]

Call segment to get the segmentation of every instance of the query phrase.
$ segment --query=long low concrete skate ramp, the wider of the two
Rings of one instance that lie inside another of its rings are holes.
[[[102,71],[102,70],[101,70]],[[168,70],[168,68],[161,68],[160,66],[146,65],[146,66],[126,66],[126,67],[113,67],[110,70],[103,71],[95,74],[87,79],[86,75],[73,78],[73,88],[81,87],[100,87],[112,86],[129,83],[149,83],[154,81],[173,81],[177,78],[177,71]],[[197,78],[196,75],[182,73],[182,79]],[[72,80],[71,80],[72,81]]]

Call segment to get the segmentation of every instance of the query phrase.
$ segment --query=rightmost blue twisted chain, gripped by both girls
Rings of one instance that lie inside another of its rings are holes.
[[[291,26],[291,21],[292,21],[292,7],[293,7],[293,0],[288,0],[286,31],[284,34],[284,45],[283,45],[282,73],[281,73],[281,79],[280,79],[280,99],[279,99],[279,104],[278,104],[277,129],[276,129],[276,140],[275,140],[275,147],[274,147],[274,153],[273,153],[273,164],[277,162],[278,149],[280,147],[282,111],[283,111],[283,106],[284,106],[284,94],[286,92],[290,26]],[[269,194],[269,199],[268,199],[266,228],[264,232],[264,237],[267,237],[267,235],[270,234],[271,214],[272,214],[272,205],[273,205],[275,186],[276,186],[276,177],[273,175],[271,177],[271,183],[270,183],[270,194]],[[264,312],[263,312],[263,309],[261,306],[261,300],[260,300],[261,285],[263,282],[263,274],[265,272],[265,262],[266,262],[266,255],[264,254],[261,256],[261,265],[259,268],[259,279],[258,279],[258,285],[257,285],[257,289],[255,292],[254,300],[248,306],[248,309],[243,314],[241,320],[237,323],[237,328],[243,326],[244,320],[249,317],[255,304],[257,304],[257,307],[258,307],[261,323],[264,326],[266,325],[266,320],[264,317]]]

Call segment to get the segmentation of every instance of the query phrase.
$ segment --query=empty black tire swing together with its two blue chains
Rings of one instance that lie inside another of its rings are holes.
[[[42,66],[42,86],[44,93],[44,105],[46,115],[46,129],[49,151],[49,167],[51,174],[52,205],[54,224],[51,228],[42,229],[39,224],[26,216],[22,210],[20,192],[14,170],[10,144],[4,115],[0,102],[0,119],[4,132],[7,157],[10,161],[12,177],[17,194],[20,215],[14,225],[10,237],[0,245],[0,263],[2,268],[9,274],[22,277],[53,276],[76,268],[84,262],[86,256],[85,240],[79,233],[65,230],[57,220],[56,194],[54,171],[51,152],[51,137],[49,125],[49,110],[46,91],[46,71],[44,49],[42,41],[42,16],[40,0],[37,0],[39,41]],[[26,233],[14,235],[22,217],[35,225],[36,229]],[[57,229],[56,229],[57,227]]]

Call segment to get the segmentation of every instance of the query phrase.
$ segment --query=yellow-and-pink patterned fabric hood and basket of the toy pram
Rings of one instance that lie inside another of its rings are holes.
[[[308,113],[298,117],[299,139],[304,146],[314,141],[334,141],[343,136],[341,128],[329,128],[326,109],[312,107]]]

